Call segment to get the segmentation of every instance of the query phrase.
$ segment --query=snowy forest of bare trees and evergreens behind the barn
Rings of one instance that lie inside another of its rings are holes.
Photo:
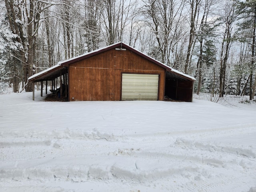
[[[255,33],[256,0],[0,0],[0,93],[122,41],[195,77],[196,94],[252,100]]]

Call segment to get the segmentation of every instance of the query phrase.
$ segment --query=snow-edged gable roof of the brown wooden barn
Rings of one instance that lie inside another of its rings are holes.
[[[55,77],[60,76],[60,72],[63,71],[63,74],[64,74],[64,72],[66,71],[66,68],[68,67],[69,64],[72,64],[74,62],[78,62],[80,60],[84,60],[86,58],[89,58],[91,56],[100,54],[102,52],[106,52],[106,51],[111,50],[113,48],[118,48],[120,50],[128,49],[128,50],[138,54],[139,56],[142,56],[143,58],[153,62],[154,64],[157,64],[158,66],[161,66],[162,68],[166,69],[167,72],[171,72],[171,73],[174,74],[174,76],[179,77],[181,79],[187,79],[187,80],[192,80],[192,81],[196,80],[192,76],[189,76],[187,74],[179,72],[178,70],[175,70],[175,69],[171,68],[170,66],[167,66],[166,64],[163,64],[162,62],[159,62],[158,60],[156,60],[156,59],[154,59],[150,56],[147,56],[146,54],[132,48],[131,46],[129,46],[127,44],[124,44],[123,42],[118,42],[116,44],[112,44],[110,46],[106,46],[104,48],[97,49],[97,50],[94,50],[92,52],[88,52],[86,54],[82,54],[80,56],[76,56],[74,58],[70,58],[68,60],[58,62],[57,65],[55,65],[51,68],[48,68],[48,69],[46,69],[46,70],[44,70],[40,73],[34,74],[30,78],[28,78],[28,80],[33,81],[33,82],[39,82],[39,81],[44,81],[44,80],[53,80]]]

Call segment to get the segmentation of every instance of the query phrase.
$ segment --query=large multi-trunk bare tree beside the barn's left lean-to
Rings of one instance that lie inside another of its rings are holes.
[[[38,29],[42,22],[42,12],[54,5],[54,2],[40,0],[5,0],[8,22],[16,41],[21,45],[19,55],[16,56],[23,66],[23,80],[26,82],[26,91],[32,90],[28,77],[34,73],[36,63],[36,48]]]

